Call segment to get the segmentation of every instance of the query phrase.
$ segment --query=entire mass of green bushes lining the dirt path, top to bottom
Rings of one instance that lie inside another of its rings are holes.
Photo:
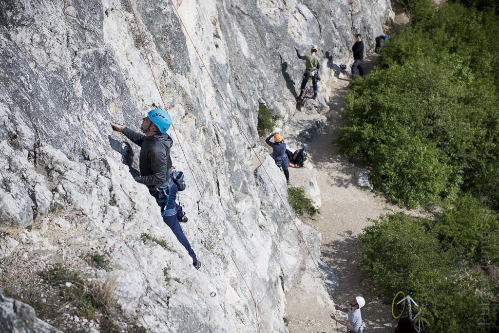
[[[497,0],[403,0],[411,24],[352,81],[339,143],[389,200],[431,219],[381,216],[360,270],[390,301],[413,297],[431,332],[499,332]]]

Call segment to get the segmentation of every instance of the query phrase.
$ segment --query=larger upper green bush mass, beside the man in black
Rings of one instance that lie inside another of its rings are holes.
[[[354,80],[342,152],[389,200],[415,207],[467,191],[499,208],[499,18],[409,1],[413,24]]]

